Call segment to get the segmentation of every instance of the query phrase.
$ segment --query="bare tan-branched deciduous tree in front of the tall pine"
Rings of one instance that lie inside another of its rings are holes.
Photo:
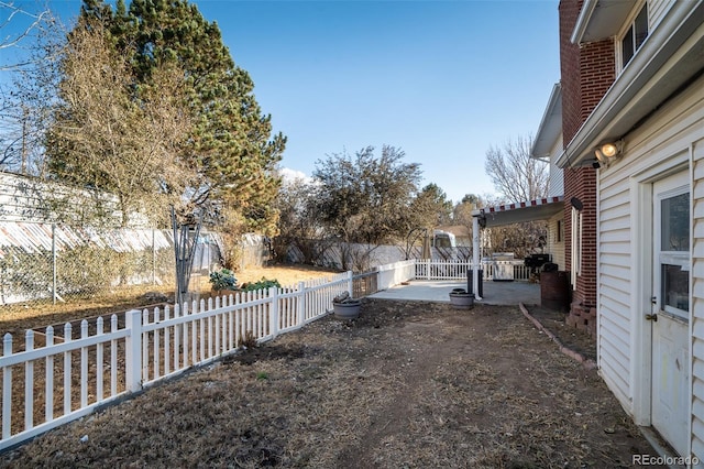
[[[63,63],[61,106],[48,133],[51,168],[63,179],[114,195],[127,226],[131,214],[164,221],[164,207],[183,204],[198,190],[183,149],[193,127],[185,74],[162,64],[153,86],[133,99],[134,77],[127,54],[108,46],[101,24],[77,29]]]

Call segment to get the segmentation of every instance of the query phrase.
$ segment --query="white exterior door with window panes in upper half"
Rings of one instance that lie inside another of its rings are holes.
[[[690,187],[686,173],[653,184],[652,426],[680,455],[690,426]]]

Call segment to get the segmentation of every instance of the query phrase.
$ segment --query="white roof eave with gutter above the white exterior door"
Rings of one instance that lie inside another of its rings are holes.
[[[598,8],[587,14],[588,8],[617,2],[586,2],[578,23],[583,33],[573,40],[598,39],[586,35],[588,24],[596,24]],[[630,3],[630,2],[623,2]],[[615,8],[615,7],[614,7]],[[605,10],[606,11],[606,10]],[[587,12],[587,13],[585,13]],[[594,149],[606,142],[624,140],[670,98],[701,77],[704,73],[704,0],[672,2],[658,23],[606,91],[600,103],[584,121],[576,134],[558,157],[560,167],[591,165]]]

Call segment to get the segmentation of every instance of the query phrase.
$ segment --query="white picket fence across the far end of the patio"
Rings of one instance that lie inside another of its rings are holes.
[[[465,280],[468,271],[472,270],[471,261],[422,259],[416,261],[416,279],[422,280]],[[530,269],[522,260],[517,261],[482,261],[480,269],[483,279],[506,280],[508,273],[516,281],[530,280]]]

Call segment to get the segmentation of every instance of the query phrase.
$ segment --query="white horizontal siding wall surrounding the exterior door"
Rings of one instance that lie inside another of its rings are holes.
[[[651,2],[660,7],[661,2]],[[639,423],[650,415],[651,185],[692,166],[692,450],[704,460],[704,79],[626,135],[598,172],[597,310],[601,373]]]

